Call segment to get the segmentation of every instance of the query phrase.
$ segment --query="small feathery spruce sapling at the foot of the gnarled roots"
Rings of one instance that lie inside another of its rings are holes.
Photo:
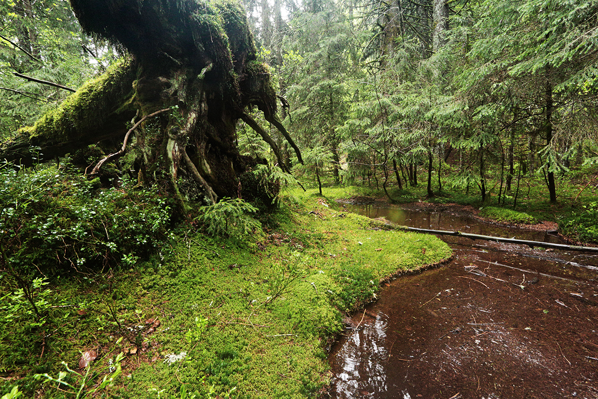
[[[218,203],[199,208],[196,218],[210,236],[244,237],[261,230],[260,223],[249,216],[258,209],[239,198],[222,198]]]

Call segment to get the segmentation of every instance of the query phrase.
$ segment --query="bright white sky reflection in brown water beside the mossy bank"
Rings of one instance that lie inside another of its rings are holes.
[[[344,363],[333,385],[339,399],[382,398],[388,390],[384,364],[388,360],[386,325],[388,316],[379,312],[375,319],[365,318],[344,342]]]

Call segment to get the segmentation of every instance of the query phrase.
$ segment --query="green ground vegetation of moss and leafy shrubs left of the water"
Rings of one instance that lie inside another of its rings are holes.
[[[126,181],[1,173],[0,394],[312,397],[343,314],[450,255],[313,191],[173,224],[167,201]]]

